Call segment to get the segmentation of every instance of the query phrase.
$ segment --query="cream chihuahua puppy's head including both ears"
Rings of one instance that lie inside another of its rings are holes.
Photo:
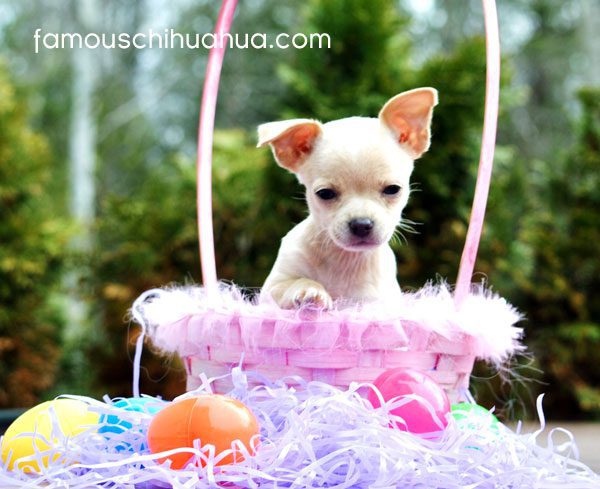
[[[269,144],[297,175],[311,215],[337,246],[367,250],[386,243],[400,222],[436,104],[436,90],[418,88],[390,99],[377,119],[270,122],[258,128],[258,146]]]

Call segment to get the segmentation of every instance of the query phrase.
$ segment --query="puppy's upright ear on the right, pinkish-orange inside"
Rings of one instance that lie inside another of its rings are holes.
[[[437,103],[437,90],[416,88],[388,100],[379,112],[379,120],[417,159],[429,149],[431,116]]]

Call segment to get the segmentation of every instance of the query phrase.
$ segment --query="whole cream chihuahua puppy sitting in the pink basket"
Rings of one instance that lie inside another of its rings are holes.
[[[277,163],[306,188],[309,216],[282,240],[261,292],[282,308],[331,308],[400,294],[388,241],[409,195],[414,160],[429,148],[437,91],[390,99],[378,118],[311,119],[258,128]]]

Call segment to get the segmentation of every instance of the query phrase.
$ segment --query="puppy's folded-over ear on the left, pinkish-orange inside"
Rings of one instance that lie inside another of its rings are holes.
[[[321,134],[321,123],[311,119],[268,122],[258,126],[257,147],[270,144],[277,163],[297,172]]]

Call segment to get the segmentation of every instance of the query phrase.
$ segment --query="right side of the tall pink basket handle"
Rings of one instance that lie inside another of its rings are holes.
[[[485,112],[475,197],[473,198],[467,238],[460,259],[456,289],[454,291],[454,302],[457,307],[467,297],[471,288],[471,277],[475,268],[479,241],[481,240],[485,207],[490,189],[492,167],[494,165],[494,148],[498,125],[498,104],[500,98],[500,36],[498,33],[498,14],[496,12],[495,0],[482,0],[482,3],[486,45]]]

